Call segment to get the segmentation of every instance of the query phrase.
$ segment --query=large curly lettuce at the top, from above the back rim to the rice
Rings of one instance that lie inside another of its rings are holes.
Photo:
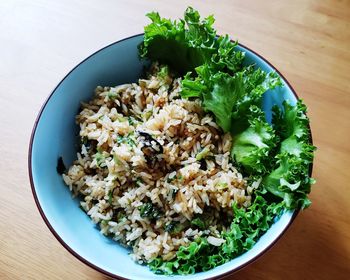
[[[145,27],[140,56],[168,64],[179,74],[187,73],[181,96],[201,98],[225,132],[233,122],[234,128],[247,125],[244,116],[249,107],[259,105],[267,90],[281,85],[274,72],[243,67],[244,53],[227,35],[216,36],[212,16],[201,19],[191,7],[179,21],[161,18],[156,12],[147,16],[152,23]]]

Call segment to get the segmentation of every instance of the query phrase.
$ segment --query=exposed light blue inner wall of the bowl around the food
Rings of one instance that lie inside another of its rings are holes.
[[[113,86],[137,81],[145,66],[137,54],[137,45],[142,39],[143,35],[137,35],[96,52],[62,80],[38,117],[32,136],[29,169],[33,194],[45,222],[74,255],[109,275],[129,279],[169,279],[134,263],[129,250],[103,236],[79,208],[78,200],[72,198],[56,171],[59,157],[66,166],[76,157],[78,127],[75,115],[80,102],[89,100],[97,85]],[[253,62],[265,71],[274,70],[253,52],[242,46],[238,48],[246,52],[247,62]],[[292,89],[285,81],[284,84],[283,88],[264,98],[263,108],[268,119],[271,118],[272,104],[280,104],[284,99],[296,102]],[[215,269],[192,275],[191,279],[218,276],[250,262],[283,233],[292,218],[293,212],[284,213],[250,251]],[[186,276],[172,277],[180,278]]]

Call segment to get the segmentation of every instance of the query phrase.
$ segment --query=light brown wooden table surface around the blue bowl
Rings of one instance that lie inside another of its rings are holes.
[[[275,65],[309,107],[312,206],[258,261],[227,279],[350,279],[350,2],[0,1],[0,279],[107,279],[66,251],[39,215],[27,153],[37,113],[94,51],[141,33],[146,12],[214,14],[220,34]],[[190,278],[189,278],[190,279]]]

